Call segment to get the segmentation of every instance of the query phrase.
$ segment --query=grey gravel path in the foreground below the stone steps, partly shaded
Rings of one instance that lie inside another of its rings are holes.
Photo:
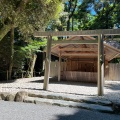
[[[0,101],[0,120],[120,120],[120,115],[48,104]]]

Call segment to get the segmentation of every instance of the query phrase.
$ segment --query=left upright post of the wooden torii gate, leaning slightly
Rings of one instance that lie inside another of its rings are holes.
[[[44,75],[44,90],[48,90],[49,75],[50,75],[50,62],[51,62],[51,44],[52,36],[48,36],[46,58],[45,58],[45,75]]]

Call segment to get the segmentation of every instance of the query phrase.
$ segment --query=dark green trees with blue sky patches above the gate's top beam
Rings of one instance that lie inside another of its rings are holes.
[[[68,26],[69,30],[111,29],[114,24],[120,27],[120,1],[81,0],[75,3],[76,0],[65,2],[66,16],[54,21],[51,28],[63,31]]]

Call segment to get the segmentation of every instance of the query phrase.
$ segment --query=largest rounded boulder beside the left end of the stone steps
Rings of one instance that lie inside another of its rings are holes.
[[[24,102],[24,99],[28,97],[28,93],[26,91],[19,91],[15,95],[16,102]]]

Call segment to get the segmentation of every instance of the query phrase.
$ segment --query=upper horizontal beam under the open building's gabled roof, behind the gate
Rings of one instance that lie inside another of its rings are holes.
[[[98,51],[97,48],[60,48],[59,51]]]

